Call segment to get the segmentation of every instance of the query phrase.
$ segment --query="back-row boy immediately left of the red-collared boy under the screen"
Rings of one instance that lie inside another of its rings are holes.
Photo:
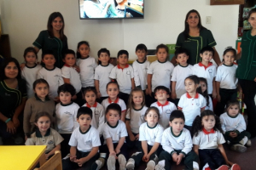
[[[111,82],[109,78],[110,72],[113,69],[113,65],[108,63],[110,59],[110,53],[107,48],[101,48],[98,51],[98,59],[101,61],[101,64],[96,66],[95,69],[95,88],[97,91],[98,102],[102,103],[103,99],[108,98],[108,93],[106,90],[106,85],[108,82]]]

